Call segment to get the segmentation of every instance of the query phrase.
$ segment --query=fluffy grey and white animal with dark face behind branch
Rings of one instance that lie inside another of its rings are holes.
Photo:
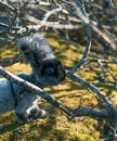
[[[32,67],[31,74],[22,72],[17,74],[18,77],[42,89],[48,86],[56,86],[65,79],[63,65],[55,59],[42,35],[35,34],[24,37],[17,46]],[[0,78],[0,114],[14,110],[21,124],[43,118],[47,116],[47,112],[38,106],[39,100],[39,95],[5,78]]]

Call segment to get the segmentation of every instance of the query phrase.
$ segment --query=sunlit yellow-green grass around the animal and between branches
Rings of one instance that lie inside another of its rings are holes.
[[[54,38],[53,38],[54,37]],[[49,44],[52,47],[57,59],[63,64],[74,65],[81,59],[81,50],[83,47],[69,44],[67,41],[61,39],[56,35],[48,35]],[[16,43],[12,42],[9,46],[0,48],[0,57],[5,60],[20,55],[20,51],[16,48]],[[62,52],[62,53],[61,53]],[[110,65],[112,68],[117,70],[117,66]],[[92,69],[94,67],[95,70]],[[30,73],[31,68],[29,64],[22,62],[15,63],[9,67],[8,70],[16,74],[18,72]],[[104,93],[108,93],[108,98],[116,95],[117,91],[113,85],[96,82],[96,73],[100,68],[95,63],[91,63],[84,66],[78,72],[83,79],[94,84]],[[80,84],[76,84],[68,78],[58,86],[52,88],[46,88],[46,90],[52,94],[52,97],[64,102],[68,106],[75,108],[80,104],[81,98],[82,105],[89,105],[94,107],[98,104],[95,97],[88,91]],[[117,102],[113,101],[117,106]],[[0,121],[3,124],[3,131],[0,133],[0,141],[98,141],[100,132],[98,130],[98,121],[89,117],[79,117],[70,121],[67,120],[60,110],[55,108],[44,100],[39,102],[48,112],[46,119],[32,120],[29,124],[20,125],[16,120],[14,112],[5,113],[0,116]]]

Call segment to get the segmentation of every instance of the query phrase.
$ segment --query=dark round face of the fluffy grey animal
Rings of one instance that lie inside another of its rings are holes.
[[[36,69],[39,82],[43,86],[56,86],[65,79],[65,69],[58,60],[47,60]]]

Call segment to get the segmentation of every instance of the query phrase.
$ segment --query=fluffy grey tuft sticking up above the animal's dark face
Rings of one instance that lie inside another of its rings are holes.
[[[22,38],[17,46],[32,67],[39,67],[44,60],[54,59],[52,50],[40,34]]]

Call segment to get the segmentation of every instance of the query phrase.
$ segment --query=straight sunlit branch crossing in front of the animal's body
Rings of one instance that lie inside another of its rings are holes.
[[[34,93],[40,95],[41,98],[46,99],[49,103],[52,105],[61,108],[64,113],[66,113],[68,116],[72,116],[74,111],[60,102],[58,100],[55,100],[52,98],[48,92],[43,91],[41,88],[17,77],[16,75],[13,75],[12,73],[5,70],[2,66],[0,66],[0,75],[4,76],[6,79],[11,80],[12,82],[24,87],[26,90],[32,91]]]

